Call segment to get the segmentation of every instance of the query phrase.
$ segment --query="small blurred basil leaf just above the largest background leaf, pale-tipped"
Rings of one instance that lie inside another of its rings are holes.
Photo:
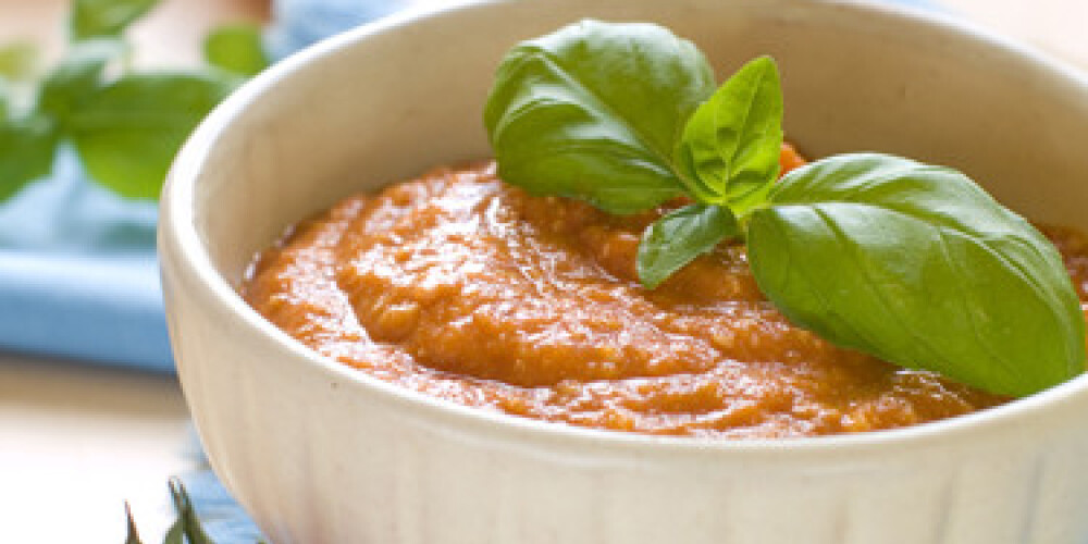
[[[63,123],[77,102],[102,85],[107,65],[124,52],[124,44],[111,38],[73,45],[64,60],[41,84],[38,109]]]

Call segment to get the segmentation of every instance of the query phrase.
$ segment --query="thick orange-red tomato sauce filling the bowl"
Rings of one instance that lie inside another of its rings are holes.
[[[783,166],[802,161],[783,149]],[[254,264],[243,294],[323,356],[462,405],[573,425],[728,438],[912,425],[1009,400],[791,325],[720,245],[650,292],[663,211],[532,197],[494,165],[348,198]],[[1081,300],[1088,242],[1046,228]]]

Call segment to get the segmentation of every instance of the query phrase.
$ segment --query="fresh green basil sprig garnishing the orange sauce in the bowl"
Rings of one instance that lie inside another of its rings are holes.
[[[689,41],[584,21],[515,47],[484,123],[499,175],[614,213],[677,196],[646,228],[647,288],[743,237],[764,294],[840,346],[1028,395],[1085,370],[1085,319],[1056,249],[952,169],[831,157],[776,183],[782,94],[770,58],[716,91]]]

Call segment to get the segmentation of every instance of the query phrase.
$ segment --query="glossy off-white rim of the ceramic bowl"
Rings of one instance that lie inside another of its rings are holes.
[[[511,4],[519,0],[466,0],[454,4],[422,4],[359,26],[355,29],[320,41],[292,57],[274,64],[269,70],[247,82],[197,127],[177,153],[168,175],[161,198],[159,222],[159,248],[172,243],[176,248],[176,259],[169,267],[187,269],[188,275],[210,295],[225,312],[239,319],[246,326],[290,354],[300,364],[314,367],[325,378],[350,383],[369,394],[379,395],[382,400],[420,411],[423,416],[450,420],[459,425],[469,425],[487,433],[517,434],[522,440],[531,437],[568,445],[585,445],[613,452],[665,455],[715,455],[790,458],[803,455],[861,454],[886,452],[894,447],[926,447],[953,437],[970,436],[978,432],[998,428],[1022,428],[1031,425],[1034,418],[1043,415],[1052,405],[1073,401],[1088,395],[1088,373],[1053,386],[1040,393],[1014,399],[1001,406],[973,413],[922,423],[905,428],[867,431],[852,434],[786,438],[704,438],[692,436],[659,436],[635,432],[610,431],[581,428],[565,423],[506,415],[497,411],[469,407],[419,393],[382,381],[369,373],[354,369],[332,358],[319,355],[286,332],[265,320],[231,286],[212,263],[210,254],[200,240],[196,230],[194,205],[195,186],[203,172],[206,160],[219,138],[228,131],[233,121],[245,114],[251,102],[269,92],[281,79],[289,78],[308,63],[332,55],[343,49],[364,42],[371,36],[395,32],[412,25],[417,21],[441,17],[450,13],[487,9],[494,5]],[[974,41],[1013,60],[1034,64],[1044,71],[1052,81],[1064,81],[1078,88],[1088,97],[1088,76],[1071,64],[1048,57],[1040,51],[1002,37],[976,24],[955,18],[947,12],[922,9],[913,5],[875,3],[864,0],[782,0],[799,4],[821,4],[827,8],[849,9],[862,16],[891,17],[904,23],[924,27],[930,32],[954,35],[956,39]],[[820,9],[820,8],[817,8]],[[165,271],[164,271],[165,273]],[[203,300],[202,300],[203,301]],[[304,362],[305,361],[305,362]],[[183,363],[178,361],[178,368]],[[184,384],[183,384],[184,385]]]

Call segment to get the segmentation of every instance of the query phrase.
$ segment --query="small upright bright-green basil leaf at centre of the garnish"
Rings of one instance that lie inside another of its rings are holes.
[[[680,178],[700,201],[738,215],[763,203],[778,177],[782,87],[769,57],[745,64],[703,103],[677,149]]]

